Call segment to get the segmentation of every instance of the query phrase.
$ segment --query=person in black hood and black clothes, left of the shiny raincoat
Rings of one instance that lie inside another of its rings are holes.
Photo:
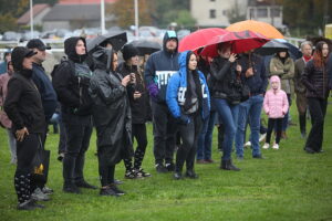
[[[89,95],[91,70],[85,63],[84,38],[72,36],[64,41],[68,61],[62,62],[53,76],[53,86],[61,103],[62,120],[66,135],[63,158],[63,191],[81,193],[79,187],[96,189],[84,180],[85,151],[92,134],[92,101]]]

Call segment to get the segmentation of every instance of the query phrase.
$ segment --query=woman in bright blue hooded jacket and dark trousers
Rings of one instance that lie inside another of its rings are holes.
[[[175,179],[181,179],[186,162],[186,177],[196,179],[194,170],[198,135],[203,120],[210,112],[210,96],[204,74],[197,70],[197,57],[191,51],[183,52],[178,59],[179,71],[167,85],[166,102],[178,124],[183,140],[176,154]]]

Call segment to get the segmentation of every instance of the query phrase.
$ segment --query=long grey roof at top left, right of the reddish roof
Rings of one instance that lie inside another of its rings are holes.
[[[43,21],[100,20],[100,4],[55,4]]]

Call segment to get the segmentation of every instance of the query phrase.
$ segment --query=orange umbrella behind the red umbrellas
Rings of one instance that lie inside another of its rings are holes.
[[[255,20],[246,20],[240,21],[230,24],[226,28],[228,31],[253,31],[258,32],[266,38],[269,39],[283,39],[283,35],[271,24],[261,22],[261,21],[255,21]]]

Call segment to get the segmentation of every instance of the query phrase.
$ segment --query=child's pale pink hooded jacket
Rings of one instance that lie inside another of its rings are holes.
[[[274,91],[271,87],[267,91],[263,101],[263,109],[269,118],[283,118],[289,108],[287,94],[280,88],[279,76],[271,76],[270,84],[272,84],[272,82],[278,82],[278,90]]]

